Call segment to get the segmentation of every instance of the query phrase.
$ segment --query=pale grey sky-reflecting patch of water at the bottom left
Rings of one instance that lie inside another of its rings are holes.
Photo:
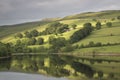
[[[46,77],[46,76],[38,75],[38,74],[0,72],[0,80],[67,80],[67,79]]]

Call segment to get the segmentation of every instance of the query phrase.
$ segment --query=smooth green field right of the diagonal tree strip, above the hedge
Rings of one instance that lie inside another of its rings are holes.
[[[115,22],[111,28],[104,27],[100,30],[95,30],[90,36],[84,38],[83,40],[75,43],[78,45],[87,45],[90,41],[94,43],[101,42],[102,44],[107,43],[120,43],[120,23]],[[75,45],[74,44],[74,45]]]

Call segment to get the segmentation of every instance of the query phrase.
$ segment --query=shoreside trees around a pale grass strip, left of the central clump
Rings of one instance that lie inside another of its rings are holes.
[[[39,41],[40,40],[40,41]],[[43,44],[43,39],[38,38],[36,39],[30,39],[28,43],[23,43],[21,40],[17,40],[15,45],[12,44],[12,52],[13,53],[30,53],[30,52],[44,52],[47,51],[46,48],[43,46],[37,47],[37,48],[29,48],[28,45],[33,45],[33,44]]]

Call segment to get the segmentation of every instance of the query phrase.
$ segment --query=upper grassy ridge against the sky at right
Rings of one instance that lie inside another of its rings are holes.
[[[101,11],[101,12],[85,12],[82,14],[66,16],[63,19],[106,19],[106,18],[114,18],[118,16],[120,10],[108,10],[108,11]]]

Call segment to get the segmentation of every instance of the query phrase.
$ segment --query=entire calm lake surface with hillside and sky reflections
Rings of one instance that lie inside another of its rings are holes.
[[[0,59],[0,80],[120,80],[120,62],[69,55]]]

